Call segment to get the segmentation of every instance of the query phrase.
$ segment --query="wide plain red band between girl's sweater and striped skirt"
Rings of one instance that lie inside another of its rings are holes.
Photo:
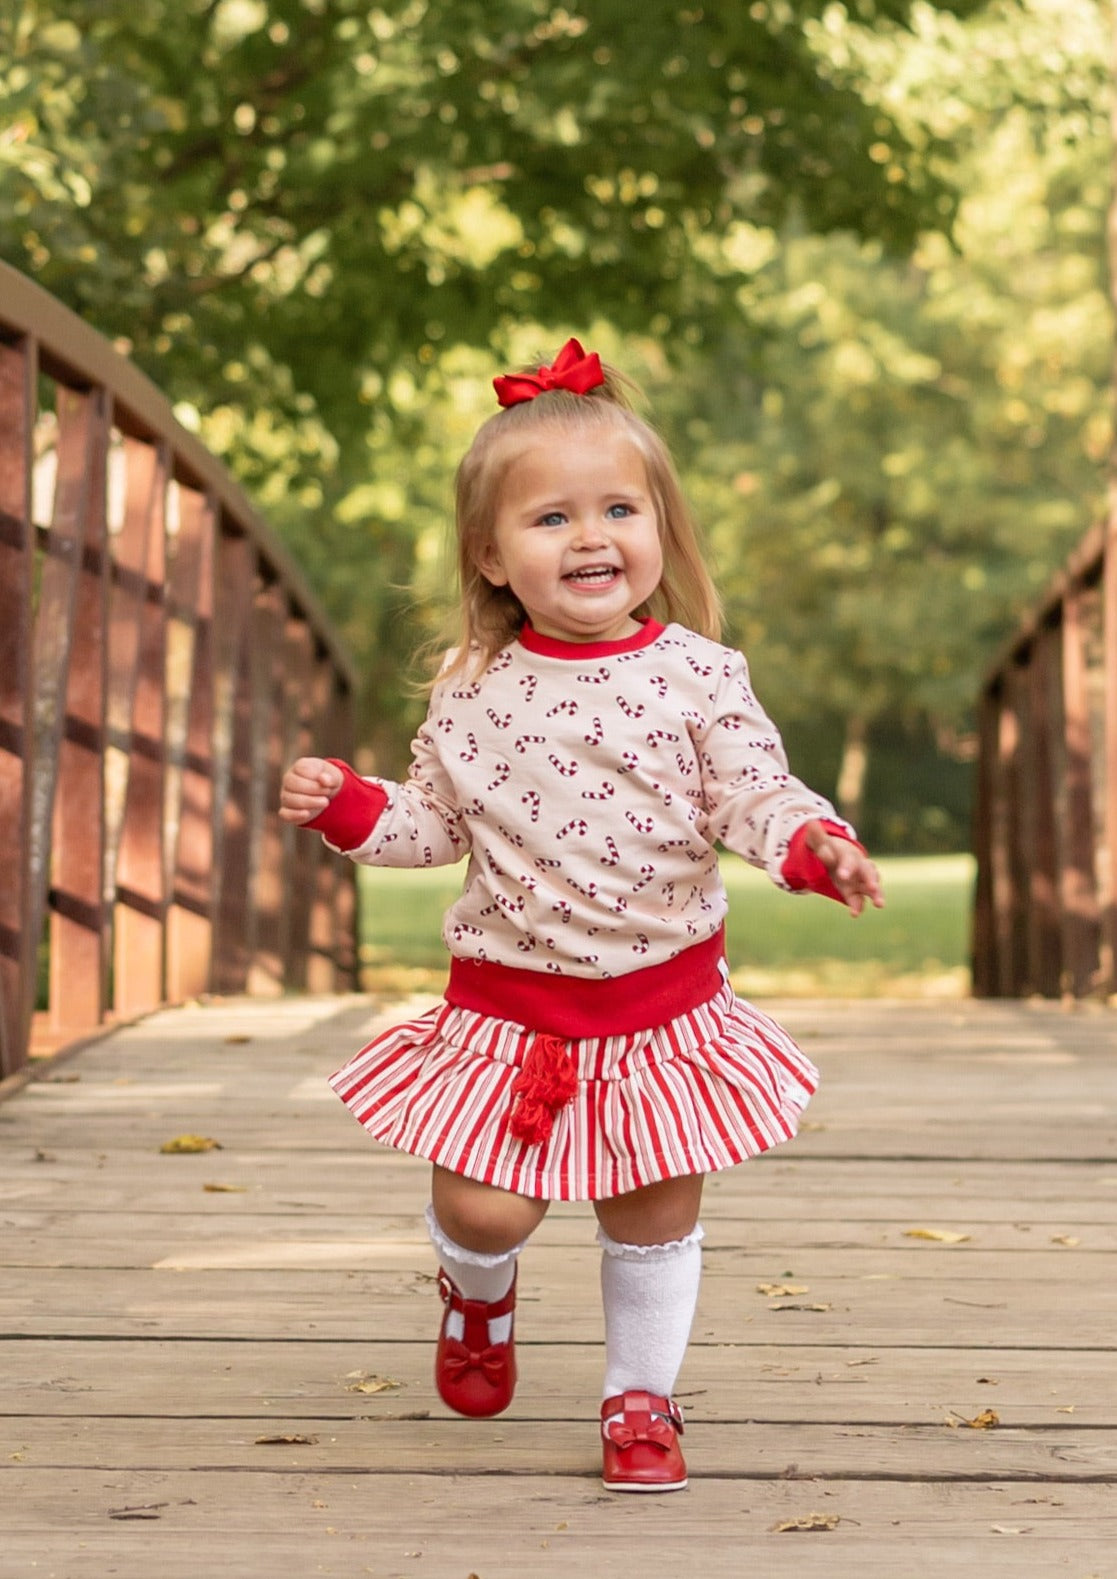
[[[708,1003],[725,981],[724,958],[724,927],[673,960],[605,979],[550,976],[493,960],[453,958],[444,996],[457,1009],[513,1020],[567,1041],[626,1036],[667,1025]]]

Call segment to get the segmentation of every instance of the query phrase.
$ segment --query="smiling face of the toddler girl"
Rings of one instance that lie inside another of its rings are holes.
[[[648,471],[621,431],[540,433],[512,461],[480,556],[540,636],[618,641],[659,586],[664,553]]]

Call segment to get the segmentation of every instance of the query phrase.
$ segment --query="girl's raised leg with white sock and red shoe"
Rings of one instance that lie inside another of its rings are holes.
[[[427,1227],[446,1306],[434,1382],[460,1415],[498,1415],[512,1402],[517,1258],[547,1202],[434,1168]]]

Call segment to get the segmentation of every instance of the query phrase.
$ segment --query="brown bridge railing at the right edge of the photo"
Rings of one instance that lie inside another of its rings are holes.
[[[989,673],[973,990],[1117,993],[1117,527],[1090,532]]]

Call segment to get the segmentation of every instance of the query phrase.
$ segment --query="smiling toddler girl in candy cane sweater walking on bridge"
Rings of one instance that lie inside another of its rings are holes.
[[[572,339],[495,382],[457,482],[460,641],[408,778],[300,758],[281,815],[370,865],[469,857],[444,1001],[330,1082],[433,1164],[441,1397],[507,1408],[517,1257],[548,1202],[591,1200],[604,1481],[678,1491],[703,1175],[788,1140],[817,1083],[728,985],[717,842],[855,916],[883,898],[719,646],[675,467],[619,376]]]

